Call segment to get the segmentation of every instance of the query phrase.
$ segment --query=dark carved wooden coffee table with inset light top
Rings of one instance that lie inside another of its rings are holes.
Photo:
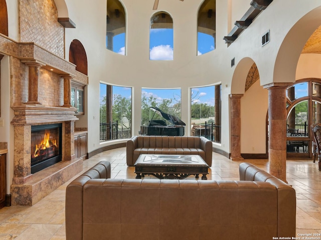
[[[145,174],[159,179],[184,179],[190,175],[207,180],[209,165],[200,155],[141,154],[134,164],[136,178]]]

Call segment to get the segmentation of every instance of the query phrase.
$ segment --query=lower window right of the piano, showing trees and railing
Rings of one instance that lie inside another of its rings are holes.
[[[191,89],[191,123],[191,135],[221,142],[221,84]]]

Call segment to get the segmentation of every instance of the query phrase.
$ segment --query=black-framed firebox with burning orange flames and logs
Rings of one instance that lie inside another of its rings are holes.
[[[31,173],[62,160],[62,123],[31,126]]]

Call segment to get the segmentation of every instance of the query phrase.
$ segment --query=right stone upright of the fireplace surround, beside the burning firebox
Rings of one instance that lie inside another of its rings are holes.
[[[64,121],[63,122],[63,161],[68,161],[75,158],[75,121]]]

